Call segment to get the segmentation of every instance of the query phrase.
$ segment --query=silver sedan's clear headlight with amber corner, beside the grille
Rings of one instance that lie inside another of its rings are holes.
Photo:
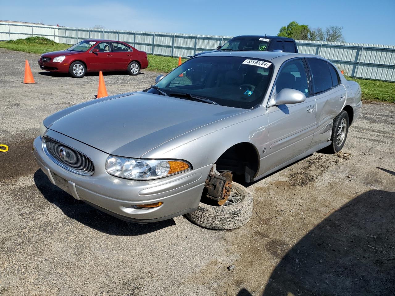
[[[158,179],[191,169],[191,165],[182,160],[131,159],[110,155],[105,169],[113,176],[132,180]]]

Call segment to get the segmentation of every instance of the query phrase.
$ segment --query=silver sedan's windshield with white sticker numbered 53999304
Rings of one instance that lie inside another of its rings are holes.
[[[239,56],[198,56],[167,74],[156,86],[169,96],[208,99],[228,107],[260,104],[271,79],[271,62]],[[158,94],[151,88],[148,92]],[[183,96],[182,96],[183,95]]]

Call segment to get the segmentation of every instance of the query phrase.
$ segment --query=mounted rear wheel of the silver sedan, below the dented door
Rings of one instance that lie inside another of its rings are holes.
[[[335,120],[333,120],[331,144],[326,148],[327,153],[335,154],[342,150],[346,142],[349,122],[348,113],[344,110],[335,117]]]

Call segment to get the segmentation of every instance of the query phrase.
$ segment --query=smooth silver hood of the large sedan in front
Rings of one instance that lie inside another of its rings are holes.
[[[59,111],[44,124],[108,154],[139,158],[180,135],[248,111],[146,92],[95,101]]]

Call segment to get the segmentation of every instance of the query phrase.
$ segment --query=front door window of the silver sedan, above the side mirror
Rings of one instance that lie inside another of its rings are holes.
[[[299,90],[308,97],[308,82],[305,64],[301,59],[287,62],[278,73],[276,93],[283,88]]]

